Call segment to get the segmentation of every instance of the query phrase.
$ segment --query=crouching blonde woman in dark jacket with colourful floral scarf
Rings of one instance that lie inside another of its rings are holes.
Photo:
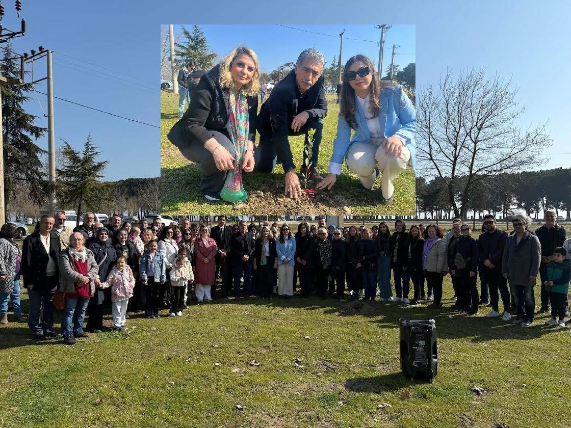
[[[246,200],[242,171],[254,169],[259,80],[258,56],[249,47],[235,47],[200,78],[180,119],[184,146],[178,148],[200,164],[206,199]]]

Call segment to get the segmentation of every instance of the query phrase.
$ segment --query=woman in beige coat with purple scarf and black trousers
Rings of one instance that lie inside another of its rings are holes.
[[[448,269],[448,245],[439,225],[431,224],[424,231],[423,267],[428,289],[432,288],[434,302],[428,308],[441,308],[442,280]]]

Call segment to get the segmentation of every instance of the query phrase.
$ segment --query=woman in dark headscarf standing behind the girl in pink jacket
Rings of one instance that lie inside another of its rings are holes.
[[[97,288],[87,306],[86,330],[91,333],[101,333],[103,330],[103,300],[105,296],[103,289],[99,288],[99,286],[107,279],[117,258],[117,252],[111,245],[109,229],[106,227],[100,228],[97,231],[96,240],[89,245],[89,249],[93,252],[99,269],[98,277],[95,278],[95,286]]]

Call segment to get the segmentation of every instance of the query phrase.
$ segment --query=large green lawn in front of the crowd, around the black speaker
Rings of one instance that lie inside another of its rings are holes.
[[[447,306],[451,294],[447,276]],[[466,317],[375,301],[349,316],[343,304],[295,297],[159,320],[135,313],[128,333],[75,346],[35,343],[10,322],[0,326],[0,426],[569,426],[571,335],[542,325],[548,316],[525,329],[485,318],[489,308]],[[434,383],[400,374],[399,318],[435,318]]]

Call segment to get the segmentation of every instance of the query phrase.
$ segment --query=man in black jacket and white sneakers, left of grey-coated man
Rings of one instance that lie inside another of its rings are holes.
[[[492,312],[486,317],[500,316],[499,290],[504,305],[504,314],[501,319],[509,321],[512,318],[509,306],[510,292],[508,281],[501,274],[502,257],[504,256],[505,240],[508,239],[508,234],[496,227],[496,219],[491,214],[484,216],[484,227],[486,231],[478,237],[478,244],[480,244],[480,280],[488,284],[492,303]],[[483,292],[484,290],[482,290]]]

